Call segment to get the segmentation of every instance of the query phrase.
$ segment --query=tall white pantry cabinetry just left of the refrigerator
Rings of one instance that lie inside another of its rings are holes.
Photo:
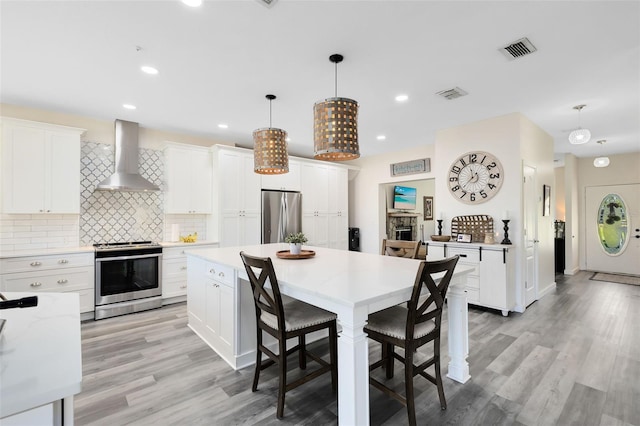
[[[253,153],[217,147],[215,159],[220,246],[260,244],[260,175],[253,171]]]

